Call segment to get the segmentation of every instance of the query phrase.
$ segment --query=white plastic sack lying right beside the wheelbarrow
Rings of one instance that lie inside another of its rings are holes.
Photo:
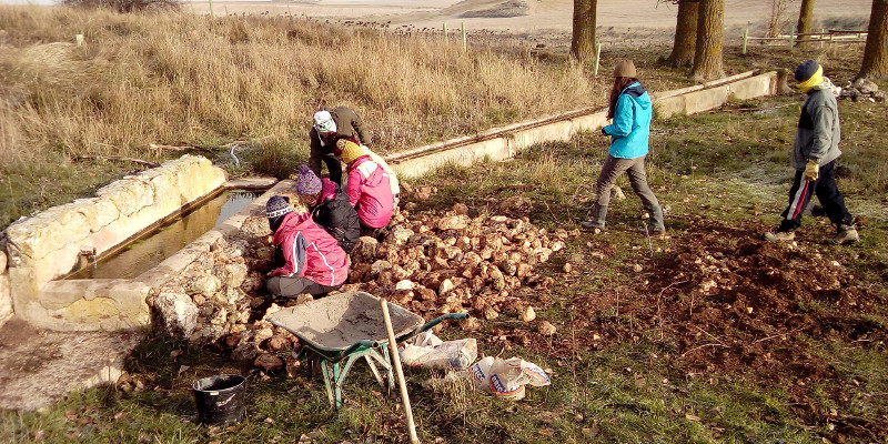
[[[431,331],[414,337],[398,350],[401,362],[416,367],[465,370],[478,356],[478,344],[473,337],[442,342]]]

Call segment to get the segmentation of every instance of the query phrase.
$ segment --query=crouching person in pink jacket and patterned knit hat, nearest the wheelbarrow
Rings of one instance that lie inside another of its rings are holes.
[[[316,297],[339,289],[349,278],[349,255],[335,239],[312,220],[307,212],[293,211],[280,195],[265,204],[274,244],[281,248],[284,265],[272,270],[265,289],[275,296],[295,297],[307,293]]]

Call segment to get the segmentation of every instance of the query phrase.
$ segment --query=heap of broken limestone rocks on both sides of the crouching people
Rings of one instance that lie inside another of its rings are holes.
[[[341,291],[386,297],[426,320],[471,313],[461,324],[467,331],[477,330],[482,319],[502,314],[534,322],[526,296],[554,283],[538,266],[564,249],[568,238],[579,235],[576,230],[549,232],[526,218],[471,218],[460,203],[443,214],[414,218],[401,210],[390,226],[382,241],[361,238]],[[264,215],[255,214],[236,235],[215,241],[200,260],[152,293],[155,326],[238,361],[282,367],[278,354],[299,347],[299,339],[264,317],[311,296],[272,300],[264,292],[265,273],[275,256],[270,234]],[[552,330],[546,322],[538,329],[544,334]]]

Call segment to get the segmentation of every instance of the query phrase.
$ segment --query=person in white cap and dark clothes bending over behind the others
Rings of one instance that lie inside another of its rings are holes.
[[[359,144],[370,147],[370,132],[357,113],[347,107],[321,110],[314,113],[312,129],[309,131],[311,152],[309,168],[321,176],[321,162],[326,164],[330,180],[342,185],[342,164],[334,155],[336,139],[354,139]]]

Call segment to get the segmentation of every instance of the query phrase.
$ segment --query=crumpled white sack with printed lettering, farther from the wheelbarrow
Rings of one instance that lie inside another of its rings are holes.
[[[487,356],[473,364],[468,373],[480,390],[515,401],[524,397],[526,384],[541,387],[552,383],[543,369],[521,357]]]

